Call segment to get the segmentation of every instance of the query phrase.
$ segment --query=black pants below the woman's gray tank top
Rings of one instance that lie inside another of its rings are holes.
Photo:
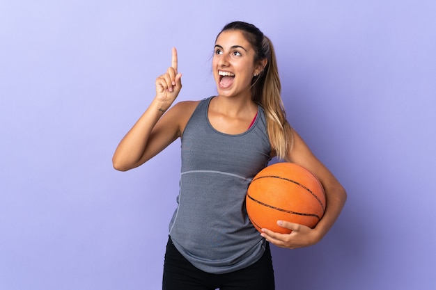
[[[193,266],[169,239],[166,245],[163,290],[274,290],[270,245],[255,264],[241,270],[211,274]]]

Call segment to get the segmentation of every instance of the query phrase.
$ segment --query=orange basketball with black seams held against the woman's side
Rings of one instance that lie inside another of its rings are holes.
[[[246,195],[247,214],[254,227],[288,234],[277,225],[286,220],[315,227],[325,211],[325,193],[318,178],[295,163],[267,166],[251,180]]]

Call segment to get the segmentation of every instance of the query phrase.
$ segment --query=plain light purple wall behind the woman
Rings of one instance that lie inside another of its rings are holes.
[[[0,289],[160,289],[179,142],[116,172],[178,47],[183,99],[215,93],[215,36],[272,38],[291,124],[348,191],[277,289],[435,289],[436,3],[2,1]]]

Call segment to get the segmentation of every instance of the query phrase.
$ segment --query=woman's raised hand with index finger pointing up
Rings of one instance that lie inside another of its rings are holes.
[[[166,111],[178,96],[182,88],[182,74],[177,71],[177,50],[173,47],[173,56],[171,67],[166,70],[165,74],[158,76],[156,79],[156,97],[158,102],[162,103],[162,110]]]

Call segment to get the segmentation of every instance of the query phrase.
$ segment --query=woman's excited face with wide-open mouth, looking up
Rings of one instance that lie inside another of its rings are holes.
[[[254,64],[255,51],[241,31],[227,30],[218,35],[212,59],[217,90],[222,96],[251,97],[251,79],[258,73]]]

